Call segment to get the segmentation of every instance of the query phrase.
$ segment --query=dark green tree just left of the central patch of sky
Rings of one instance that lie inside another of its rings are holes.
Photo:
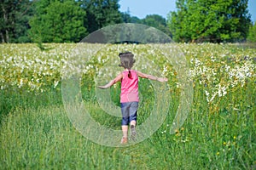
[[[86,11],[84,26],[89,32],[122,22],[119,0],[80,0],[79,2]]]

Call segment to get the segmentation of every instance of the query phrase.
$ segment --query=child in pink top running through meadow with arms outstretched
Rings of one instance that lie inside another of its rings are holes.
[[[109,88],[116,82],[121,82],[121,94],[120,103],[122,111],[122,132],[123,138],[121,144],[126,144],[128,140],[128,125],[131,127],[131,139],[135,140],[136,123],[137,123],[137,108],[138,108],[138,77],[148,78],[150,80],[156,80],[159,82],[167,82],[167,78],[154,77],[152,75],[144,74],[140,71],[131,70],[135,59],[133,59],[131,52],[120,53],[119,58],[121,64],[119,66],[124,67],[125,71],[121,72],[119,76],[108,82],[105,86],[98,86],[98,88]]]

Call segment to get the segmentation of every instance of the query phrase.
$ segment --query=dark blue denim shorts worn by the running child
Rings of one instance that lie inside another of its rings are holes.
[[[137,101],[121,103],[122,125],[129,125],[131,121],[137,121],[137,108]]]

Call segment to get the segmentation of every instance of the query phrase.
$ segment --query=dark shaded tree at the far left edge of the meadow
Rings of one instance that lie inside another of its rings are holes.
[[[5,0],[0,3],[0,41],[29,42],[28,20],[32,16],[29,0]]]

